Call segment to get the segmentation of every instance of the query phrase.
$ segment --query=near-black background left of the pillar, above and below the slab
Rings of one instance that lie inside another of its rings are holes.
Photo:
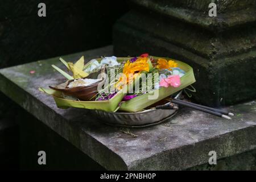
[[[128,10],[125,1],[1,0],[0,69],[112,44],[113,24]],[[0,169],[102,169],[2,93],[0,100]],[[37,163],[40,148],[51,154],[46,167]]]

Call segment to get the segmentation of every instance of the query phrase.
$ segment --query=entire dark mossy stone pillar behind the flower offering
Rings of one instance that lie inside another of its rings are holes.
[[[256,96],[256,1],[133,0],[114,26],[117,56],[148,52],[190,64],[207,105],[230,105]]]

